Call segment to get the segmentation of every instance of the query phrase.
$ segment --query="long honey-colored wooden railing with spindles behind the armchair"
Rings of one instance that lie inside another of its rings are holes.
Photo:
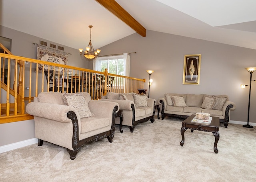
[[[26,104],[33,102],[34,97],[37,97],[40,92],[50,92],[47,82],[49,78],[45,78],[44,72],[39,72],[39,65],[42,65],[40,67],[42,70],[51,68],[56,71],[54,71],[54,76],[58,79],[57,89],[52,92],[88,92],[92,100],[100,99],[107,92],[138,93],[138,89],[143,88],[145,83],[145,79],[110,74],[107,70],[99,72],[3,53],[0,53],[0,59],[0,66],[8,68],[6,83],[0,82],[0,88],[2,88],[0,89],[0,99],[4,101],[0,102],[0,124],[33,119],[32,115],[25,112]],[[6,61],[4,65],[3,61]],[[28,64],[24,64],[25,61]],[[60,75],[60,70],[63,70],[62,75]],[[11,82],[12,78],[14,80]],[[65,87],[60,85],[60,81],[65,84],[66,91]],[[13,89],[10,88],[12,83],[14,83]],[[24,83],[29,87],[27,90],[23,86]]]

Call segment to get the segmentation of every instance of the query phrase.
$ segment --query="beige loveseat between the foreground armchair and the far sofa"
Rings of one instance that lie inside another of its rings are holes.
[[[123,110],[122,125],[128,126],[131,132],[134,131],[138,123],[148,121],[149,119],[153,123],[155,120],[154,105],[156,104],[156,100],[148,98],[147,95],[108,92],[106,96],[102,96],[101,100],[118,103],[120,110]],[[119,119],[116,119],[116,124],[120,124]]]

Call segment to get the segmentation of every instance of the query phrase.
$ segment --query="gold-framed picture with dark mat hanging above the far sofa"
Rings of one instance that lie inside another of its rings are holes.
[[[183,84],[199,85],[201,55],[185,55],[183,69]]]

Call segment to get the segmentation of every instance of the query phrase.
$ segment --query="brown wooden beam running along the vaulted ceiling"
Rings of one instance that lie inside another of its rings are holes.
[[[102,6],[104,6],[107,10],[112,12],[115,16],[117,16],[124,23],[129,25],[132,29],[134,29],[138,34],[142,37],[146,37],[146,29],[135,20],[122,6],[120,6],[115,0],[96,0]]]

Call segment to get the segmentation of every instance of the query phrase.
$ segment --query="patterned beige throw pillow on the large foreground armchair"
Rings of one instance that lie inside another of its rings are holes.
[[[90,117],[93,115],[90,112],[88,104],[82,94],[64,94],[63,97],[65,98],[64,103],[75,108],[78,111],[80,118]]]

